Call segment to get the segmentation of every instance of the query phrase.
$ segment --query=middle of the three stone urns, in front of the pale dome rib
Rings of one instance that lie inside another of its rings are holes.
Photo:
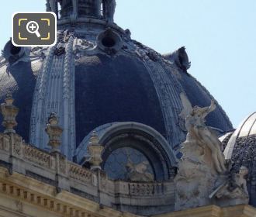
[[[51,113],[45,131],[49,136],[48,145],[51,146],[52,152],[60,151],[59,147],[61,146],[61,133],[63,129],[61,126],[58,126],[58,122],[57,115],[54,112]]]

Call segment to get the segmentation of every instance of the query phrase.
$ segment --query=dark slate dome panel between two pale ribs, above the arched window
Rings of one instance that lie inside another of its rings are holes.
[[[108,122],[141,122],[166,135],[157,92],[140,60],[98,53],[81,57],[75,74],[78,143]]]

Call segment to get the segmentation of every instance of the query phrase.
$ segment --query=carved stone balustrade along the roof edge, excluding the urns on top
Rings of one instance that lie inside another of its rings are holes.
[[[81,167],[59,152],[40,150],[16,133],[0,133],[0,160],[0,166],[8,168],[9,174],[24,174],[56,186],[57,192],[69,191],[109,207],[123,206],[129,212],[137,212],[140,205],[150,205],[150,212],[161,205],[164,210],[174,208],[173,181],[112,181],[104,171]]]

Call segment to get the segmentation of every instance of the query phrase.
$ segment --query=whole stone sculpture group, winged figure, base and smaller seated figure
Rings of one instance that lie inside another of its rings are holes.
[[[215,102],[206,108],[192,108],[184,94],[181,98],[184,107],[181,117],[185,119],[188,134],[182,143],[182,159],[175,177],[175,210],[212,204],[247,204],[249,196],[244,178],[247,168],[241,167],[239,174],[232,175],[220,140],[205,125],[206,115],[216,108]]]

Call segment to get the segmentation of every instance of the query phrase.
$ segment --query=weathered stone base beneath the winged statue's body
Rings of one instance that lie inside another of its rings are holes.
[[[214,168],[211,150],[190,140],[182,144],[182,154],[175,177],[175,210],[212,204],[209,195],[223,177]]]

